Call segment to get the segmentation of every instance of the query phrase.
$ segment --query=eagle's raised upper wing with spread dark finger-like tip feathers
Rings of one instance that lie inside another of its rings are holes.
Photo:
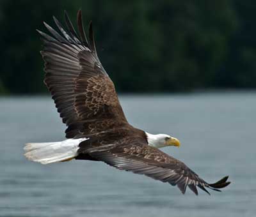
[[[38,32],[44,41],[44,82],[68,126],[66,137],[92,135],[127,123],[115,86],[97,56],[92,22],[87,40],[81,10],[77,13],[79,36],[66,12],[67,31],[53,18],[60,33],[46,23],[52,36]]]

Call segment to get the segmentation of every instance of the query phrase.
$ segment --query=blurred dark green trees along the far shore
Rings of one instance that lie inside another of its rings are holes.
[[[118,91],[256,87],[255,1],[1,0],[0,93],[46,91],[35,29],[79,8]]]

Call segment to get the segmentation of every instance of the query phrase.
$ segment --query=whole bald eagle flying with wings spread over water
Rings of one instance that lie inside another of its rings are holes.
[[[67,125],[62,142],[28,143],[25,156],[42,164],[76,160],[103,161],[120,170],[177,185],[187,186],[198,195],[198,188],[220,191],[230,182],[228,176],[209,184],[184,163],[159,148],[180,146],[177,138],[153,135],[128,123],[115,86],[97,56],[92,22],[88,38],[81,10],[77,13],[78,34],[65,11],[65,29],[53,17],[58,31],[44,22],[49,34],[38,31],[44,43],[44,83],[51,91],[63,123]]]

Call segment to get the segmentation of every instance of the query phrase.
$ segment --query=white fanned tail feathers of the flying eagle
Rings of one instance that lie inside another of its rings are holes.
[[[70,160],[77,156],[80,142],[88,138],[70,138],[61,142],[27,143],[24,147],[28,160],[42,164]]]

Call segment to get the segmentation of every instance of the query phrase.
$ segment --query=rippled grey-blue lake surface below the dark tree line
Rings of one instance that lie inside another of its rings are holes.
[[[180,139],[163,151],[205,181],[229,175],[211,196],[119,171],[101,162],[40,165],[26,142],[65,139],[50,96],[0,98],[0,216],[255,216],[256,93],[121,96],[130,123]],[[199,190],[198,190],[199,191]]]

